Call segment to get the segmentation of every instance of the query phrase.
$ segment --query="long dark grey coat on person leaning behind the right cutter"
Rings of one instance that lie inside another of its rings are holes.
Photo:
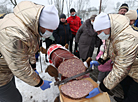
[[[94,46],[96,43],[100,44],[100,39],[94,31],[90,19],[87,19],[79,28],[75,42],[79,43],[80,58],[87,59],[88,57],[92,57]]]

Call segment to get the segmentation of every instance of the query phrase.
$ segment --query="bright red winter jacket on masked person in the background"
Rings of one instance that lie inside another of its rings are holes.
[[[72,31],[72,34],[76,35],[78,29],[81,26],[80,17],[78,17],[78,16],[74,16],[74,17],[73,16],[70,16],[67,19],[67,23],[69,23],[69,25],[70,25],[70,29]]]

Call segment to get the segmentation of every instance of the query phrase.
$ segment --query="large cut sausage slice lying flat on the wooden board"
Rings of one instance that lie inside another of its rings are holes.
[[[75,80],[62,85],[60,91],[71,99],[81,99],[86,97],[93,88],[92,83],[88,80]]]

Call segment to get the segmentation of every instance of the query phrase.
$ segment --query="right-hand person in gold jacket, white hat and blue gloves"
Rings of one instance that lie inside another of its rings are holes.
[[[94,21],[98,37],[106,41],[104,54],[90,65],[98,66],[113,61],[112,71],[86,98],[107,92],[121,83],[124,91],[122,102],[138,100],[138,32],[129,25],[129,18],[120,14],[100,13]]]

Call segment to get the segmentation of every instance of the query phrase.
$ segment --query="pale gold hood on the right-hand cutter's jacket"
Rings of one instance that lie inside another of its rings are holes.
[[[120,14],[109,14],[111,22],[111,39],[129,27],[129,18]]]

